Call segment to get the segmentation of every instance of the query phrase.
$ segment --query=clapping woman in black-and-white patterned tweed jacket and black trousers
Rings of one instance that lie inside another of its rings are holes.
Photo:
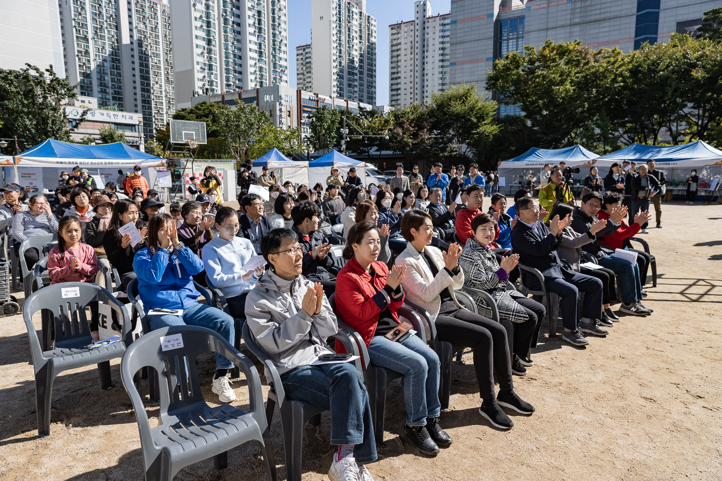
[[[487,291],[492,295],[499,308],[500,319],[513,322],[512,370],[526,369],[523,366],[534,364],[529,358],[530,348],[536,348],[536,337],[539,335],[541,319],[546,310],[542,304],[523,296],[519,291],[508,289],[509,273],[518,262],[518,255],[503,257],[501,267],[496,255],[489,247],[494,239],[495,221],[488,213],[474,217],[471,231],[474,237],[466,241],[464,252],[459,257],[458,265],[464,271],[466,286]],[[490,306],[479,296],[471,294],[477,303],[479,314],[491,316]],[[518,366],[521,363],[521,366]]]

